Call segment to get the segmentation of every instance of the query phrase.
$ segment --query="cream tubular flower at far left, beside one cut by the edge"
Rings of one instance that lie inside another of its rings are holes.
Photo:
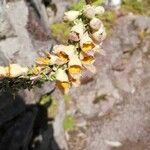
[[[9,77],[15,78],[21,75],[25,75],[28,72],[27,67],[21,67],[18,64],[10,64],[6,69],[9,70]]]

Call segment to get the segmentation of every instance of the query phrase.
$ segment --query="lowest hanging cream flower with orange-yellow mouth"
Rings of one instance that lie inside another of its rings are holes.
[[[64,93],[67,93],[70,88],[68,75],[66,71],[61,68],[56,72],[56,86]]]

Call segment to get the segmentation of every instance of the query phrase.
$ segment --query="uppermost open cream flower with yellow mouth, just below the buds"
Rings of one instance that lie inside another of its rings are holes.
[[[94,42],[89,37],[88,33],[84,33],[80,40],[80,47],[83,52],[87,52],[95,47]]]

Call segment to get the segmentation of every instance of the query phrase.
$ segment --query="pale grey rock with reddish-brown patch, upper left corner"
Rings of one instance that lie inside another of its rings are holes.
[[[1,26],[0,32],[2,30],[6,38],[0,40],[0,53],[6,58],[4,62],[31,66],[38,57],[41,47],[49,49],[52,45],[45,7],[40,0],[31,2],[24,0],[7,2],[3,8],[0,20],[4,20],[5,28]],[[11,33],[10,30],[15,32],[15,36],[7,37],[7,33]]]

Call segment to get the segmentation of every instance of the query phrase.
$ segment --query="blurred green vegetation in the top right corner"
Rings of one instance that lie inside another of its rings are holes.
[[[134,14],[150,16],[149,0],[123,0],[122,9]]]

